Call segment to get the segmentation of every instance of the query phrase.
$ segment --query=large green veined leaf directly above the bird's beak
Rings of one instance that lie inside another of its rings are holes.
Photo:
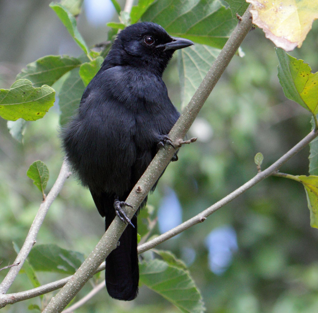
[[[142,20],[160,24],[172,36],[219,49],[237,24],[237,19],[219,0],[157,0]]]

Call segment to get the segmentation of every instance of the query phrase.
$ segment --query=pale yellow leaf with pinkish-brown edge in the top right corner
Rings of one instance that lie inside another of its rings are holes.
[[[252,3],[253,23],[277,47],[291,51],[301,47],[313,21],[318,18],[317,0],[246,0]]]

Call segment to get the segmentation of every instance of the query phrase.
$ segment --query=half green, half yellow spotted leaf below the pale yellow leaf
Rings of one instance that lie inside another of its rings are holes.
[[[275,48],[279,60],[278,78],[285,96],[299,103],[311,114],[318,113],[318,72],[303,60],[288,55],[283,49]]]

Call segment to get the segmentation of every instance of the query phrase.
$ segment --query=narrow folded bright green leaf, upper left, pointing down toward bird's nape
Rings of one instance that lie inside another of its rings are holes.
[[[64,24],[70,35],[73,37],[75,42],[79,45],[79,47],[88,54],[89,49],[86,46],[84,39],[82,38],[81,34],[79,33],[76,27],[76,20],[75,17],[61,4],[59,3],[50,3],[50,7],[52,10],[55,11],[56,15],[59,17],[61,22]]]

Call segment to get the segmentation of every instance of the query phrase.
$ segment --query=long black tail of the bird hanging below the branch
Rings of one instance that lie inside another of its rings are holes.
[[[113,218],[105,218],[106,229]],[[127,225],[119,245],[106,258],[105,280],[109,295],[118,300],[133,300],[138,294],[137,216]]]

